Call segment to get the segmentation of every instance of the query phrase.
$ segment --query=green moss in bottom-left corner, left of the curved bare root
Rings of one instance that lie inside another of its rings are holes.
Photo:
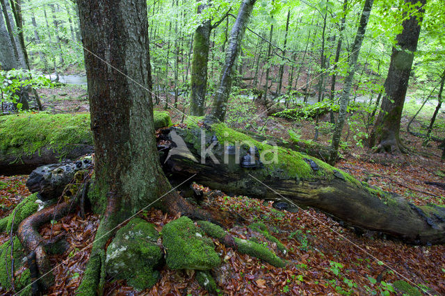
[[[14,270],[17,271],[19,268],[22,268],[23,261],[22,258],[25,257],[22,244],[20,243],[19,239],[17,237],[14,238],[14,249],[13,249],[13,257],[14,257]],[[6,268],[8,268],[8,273],[10,274],[10,268],[11,268],[11,258],[10,258],[10,240],[3,243],[3,245],[0,246],[0,283],[1,286],[5,290],[9,290],[11,288],[10,279],[8,279],[8,274],[6,273]],[[22,290],[22,293],[20,295],[30,295],[31,294],[31,286],[28,286],[29,283],[31,283],[29,269],[26,269],[22,272],[22,275],[20,277],[15,277],[14,284],[15,284],[15,290],[19,291]],[[25,288],[26,287],[26,288]]]

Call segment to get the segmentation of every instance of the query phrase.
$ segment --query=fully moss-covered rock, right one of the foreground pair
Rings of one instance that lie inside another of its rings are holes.
[[[169,222],[162,229],[167,265],[172,269],[209,270],[220,265],[210,238],[188,217]]]

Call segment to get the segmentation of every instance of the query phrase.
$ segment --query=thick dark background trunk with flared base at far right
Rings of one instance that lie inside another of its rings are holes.
[[[406,151],[399,137],[401,117],[426,0],[405,0],[405,3],[412,7],[417,7],[417,5],[420,7],[416,8],[418,13],[414,13],[403,21],[402,33],[396,37],[397,47],[392,49],[388,76],[385,81],[385,97],[383,97],[382,108],[369,137],[369,147],[375,147],[375,151],[391,153]]]

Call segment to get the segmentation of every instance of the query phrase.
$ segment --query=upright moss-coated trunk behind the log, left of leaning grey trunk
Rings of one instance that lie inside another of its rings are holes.
[[[206,6],[200,5],[197,13],[202,13]],[[191,75],[190,115],[204,115],[207,92],[207,64],[209,63],[211,21],[205,20],[195,30],[193,41],[193,60]]]

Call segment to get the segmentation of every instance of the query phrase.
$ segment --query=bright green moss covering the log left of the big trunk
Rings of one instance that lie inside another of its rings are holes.
[[[29,156],[44,147],[61,151],[66,145],[92,145],[89,114],[35,113],[0,118],[0,151]]]

